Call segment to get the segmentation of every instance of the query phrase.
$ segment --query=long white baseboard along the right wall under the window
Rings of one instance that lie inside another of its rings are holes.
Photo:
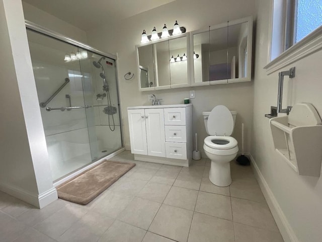
[[[282,234],[285,242],[299,242],[297,236],[294,233],[291,225],[289,224],[285,214],[283,213],[281,207],[279,206],[272,190],[268,186],[262,172],[258,168],[255,159],[252,154],[250,154],[251,162],[253,165],[253,170],[257,178],[258,184],[264,194],[267,204],[272,212],[272,215],[276,221],[276,224]]]

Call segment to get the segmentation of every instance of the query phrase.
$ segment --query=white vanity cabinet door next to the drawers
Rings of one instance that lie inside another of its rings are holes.
[[[147,154],[166,157],[164,109],[145,109],[145,126]]]

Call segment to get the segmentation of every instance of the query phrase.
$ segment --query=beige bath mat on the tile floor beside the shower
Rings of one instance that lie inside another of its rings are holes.
[[[86,205],[134,166],[135,163],[104,160],[57,187],[58,198]]]

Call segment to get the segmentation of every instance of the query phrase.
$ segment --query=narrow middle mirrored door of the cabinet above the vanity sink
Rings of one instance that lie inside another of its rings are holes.
[[[155,89],[170,88],[169,40],[153,44],[155,55]]]

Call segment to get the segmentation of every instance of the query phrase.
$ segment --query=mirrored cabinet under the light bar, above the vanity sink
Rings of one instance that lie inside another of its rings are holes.
[[[139,90],[190,86],[188,34],[136,46]]]

